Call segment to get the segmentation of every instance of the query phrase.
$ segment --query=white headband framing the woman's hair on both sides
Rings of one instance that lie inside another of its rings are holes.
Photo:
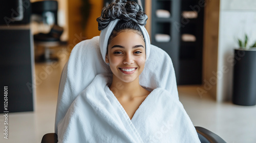
[[[100,52],[102,55],[103,60],[105,61],[105,57],[106,57],[106,49],[108,47],[108,40],[109,37],[111,35],[111,32],[113,31],[113,29],[115,28],[117,22],[120,19],[115,19],[113,21],[111,21],[108,25],[108,27],[106,27],[105,29],[101,30],[100,32],[100,38],[99,38],[99,46],[100,46]],[[145,46],[146,46],[146,60],[148,59],[148,57],[150,57],[150,49],[151,49],[151,44],[150,44],[150,35],[148,35],[145,27],[138,25],[144,35],[144,39],[145,39]]]

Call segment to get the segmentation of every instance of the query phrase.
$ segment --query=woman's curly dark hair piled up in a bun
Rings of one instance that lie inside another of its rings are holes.
[[[119,32],[126,29],[134,30],[144,40],[144,35],[138,25],[146,25],[147,15],[143,12],[139,4],[133,1],[116,0],[116,2],[111,3],[108,7],[104,7],[100,17],[97,18],[98,30],[101,31],[108,27],[110,21],[115,19],[120,20],[113,29],[108,44]]]

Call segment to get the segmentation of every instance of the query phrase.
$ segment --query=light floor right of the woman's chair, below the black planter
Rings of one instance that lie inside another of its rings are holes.
[[[216,103],[200,97],[200,86],[179,86],[179,97],[194,126],[204,127],[231,143],[256,142],[256,106]]]

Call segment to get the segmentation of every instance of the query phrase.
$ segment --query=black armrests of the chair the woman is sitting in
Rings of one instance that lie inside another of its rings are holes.
[[[202,143],[225,143],[220,136],[217,134],[202,128],[196,127],[198,137]],[[58,142],[58,137],[56,133],[48,133],[42,137],[41,143],[56,143]]]

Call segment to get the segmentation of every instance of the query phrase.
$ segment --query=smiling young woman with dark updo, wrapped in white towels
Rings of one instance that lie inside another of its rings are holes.
[[[146,20],[138,4],[117,0],[97,18],[100,36],[73,49],[60,83],[59,142],[200,142]]]

